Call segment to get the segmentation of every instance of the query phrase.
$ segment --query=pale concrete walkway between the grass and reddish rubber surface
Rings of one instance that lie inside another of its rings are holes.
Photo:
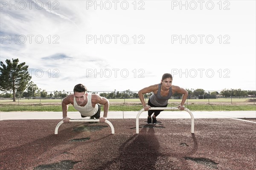
[[[110,111],[108,119],[136,119],[138,111]],[[195,119],[200,118],[256,118],[256,111],[193,111]],[[68,112],[70,119],[81,119],[79,112]],[[101,116],[103,112],[101,113]],[[145,119],[147,112],[140,115]],[[163,111],[157,116],[158,119],[186,119],[190,115],[186,111]],[[22,119],[62,119],[62,112],[1,112],[0,120]]]

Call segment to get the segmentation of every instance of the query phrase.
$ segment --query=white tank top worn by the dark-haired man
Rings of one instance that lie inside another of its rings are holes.
[[[85,106],[79,106],[76,103],[76,99],[74,97],[74,108],[81,113],[83,116],[93,116],[97,113],[99,109],[99,105],[95,105],[95,108],[92,106],[92,95],[87,95],[87,104]]]

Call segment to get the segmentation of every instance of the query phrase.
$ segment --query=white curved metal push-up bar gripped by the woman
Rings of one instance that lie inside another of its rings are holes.
[[[167,107],[167,108],[150,108],[149,110],[180,110],[178,107]],[[136,117],[136,133],[139,133],[139,117],[140,114],[144,111],[144,108],[139,111]],[[185,108],[184,111],[189,112],[191,116],[191,133],[194,133],[194,116],[188,108]]]

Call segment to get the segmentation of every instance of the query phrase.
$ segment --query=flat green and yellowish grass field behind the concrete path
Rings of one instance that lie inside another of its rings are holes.
[[[185,107],[191,111],[256,111],[256,102],[248,99],[188,99]],[[109,111],[139,111],[143,108],[140,99],[109,99]],[[146,100],[147,102],[147,100]],[[168,106],[176,107],[181,99],[169,99]],[[0,100],[1,112],[13,111],[62,111],[61,99]],[[69,105],[68,111],[76,111]]]

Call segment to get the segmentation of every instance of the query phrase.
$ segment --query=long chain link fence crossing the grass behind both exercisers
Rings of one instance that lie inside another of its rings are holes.
[[[138,91],[88,91],[89,94],[98,94],[102,97],[110,99],[111,101],[116,102],[128,102],[128,101],[139,101],[133,99],[139,99]],[[25,102],[36,102],[41,104],[42,102],[56,102],[61,103],[69,94],[73,94],[73,91],[24,91],[16,92],[15,102],[25,103]],[[153,93],[144,94],[145,100],[148,99]],[[222,95],[221,95],[222,94]],[[223,95],[224,94],[224,95]],[[187,101],[190,99],[230,99],[232,104],[234,99],[252,99],[255,104],[256,91],[189,91],[189,96]],[[173,94],[171,99],[181,99],[181,94]],[[3,92],[0,91],[0,102],[12,102],[13,94],[12,92]]]

